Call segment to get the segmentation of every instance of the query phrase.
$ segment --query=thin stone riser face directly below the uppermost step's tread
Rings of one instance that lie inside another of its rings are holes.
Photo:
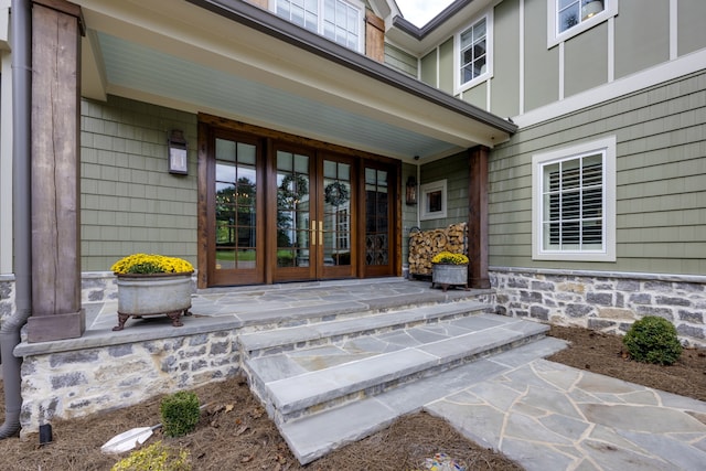
[[[311,349],[314,346],[323,346],[323,345],[331,345],[335,342],[342,342],[342,341],[347,341],[347,340],[354,340],[361,336],[365,336],[365,335],[376,335],[376,334],[383,334],[383,333],[387,333],[387,332],[393,332],[396,330],[402,330],[402,329],[409,329],[409,328],[414,328],[417,325],[430,325],[430,324],[435,324],[435,323],[439,323],[439,322],[443,322],[443,321],[451,321],[454,319],[462,319],[469,315],[473,315],[475,313],[479,313],[483,310],[489,309],[488,307],[485,307],[484,309],[479,307],[474,310],[466,310],[462,312],[454,312],[452,314],[441,314],[439,317],[430,317],[430,318],[426,318],[426,319],[415,319],[413,321],[409,322],[404,322],[404,323],[394,323],[394,324],[389,324],[389,325],[381,325],[374,329],[367,329],[367,330],[359,330],[359,331],[353,331],[353,332],[347,332],[347,333],[343,333],[343,334],[334,334],[334,335],[329,335],[329,336],[322,336],[322,338],[315,338],[315,339],[309,339],[309,340],[304,340],[304,341],[300,341],[300,342],[295,342],[295,343],[286,343],[286,344],[280,344],[280,345],[276,345],[276,346],[269,346],[269,347],[263,347],[263,349],[245,349],[243,347],[243,345],[240,344],[240,355],[243,358],[258,358],[261,356],[268,356],[268,355],[277,355],[280,353],[286,353],[286,352],[295,352],[295,351],[300,351],[300,350],[307,350],[307,349]]]

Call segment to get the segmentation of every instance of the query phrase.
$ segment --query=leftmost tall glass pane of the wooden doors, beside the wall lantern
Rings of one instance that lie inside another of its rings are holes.
[[[216,139],[215,268],[255,268],[256,147]]]

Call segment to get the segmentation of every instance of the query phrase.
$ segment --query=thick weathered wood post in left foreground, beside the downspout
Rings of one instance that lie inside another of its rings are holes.
[[[81,8],[32,4],[32,315],[28,340],[73,339],[81,308]]]

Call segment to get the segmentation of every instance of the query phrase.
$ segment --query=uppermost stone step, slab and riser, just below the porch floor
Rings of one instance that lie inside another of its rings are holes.
[[[354,318],[334,318],[328,322],[306,323],[240,334],[238,342],[246,357],[278,354],[287,350],[308,349],[361,335],[378,334],[411,328],[439,320],[470,315],[488,311],[491,307],[474,300],[420,306],[372,314],[360,313]]]

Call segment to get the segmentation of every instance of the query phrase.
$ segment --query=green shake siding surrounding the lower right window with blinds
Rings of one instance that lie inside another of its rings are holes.
[[[532,156],[614,135],[616,263],[532,260]],[[706,72],[532,126],[490,160],[490,265],[706,272]]]

